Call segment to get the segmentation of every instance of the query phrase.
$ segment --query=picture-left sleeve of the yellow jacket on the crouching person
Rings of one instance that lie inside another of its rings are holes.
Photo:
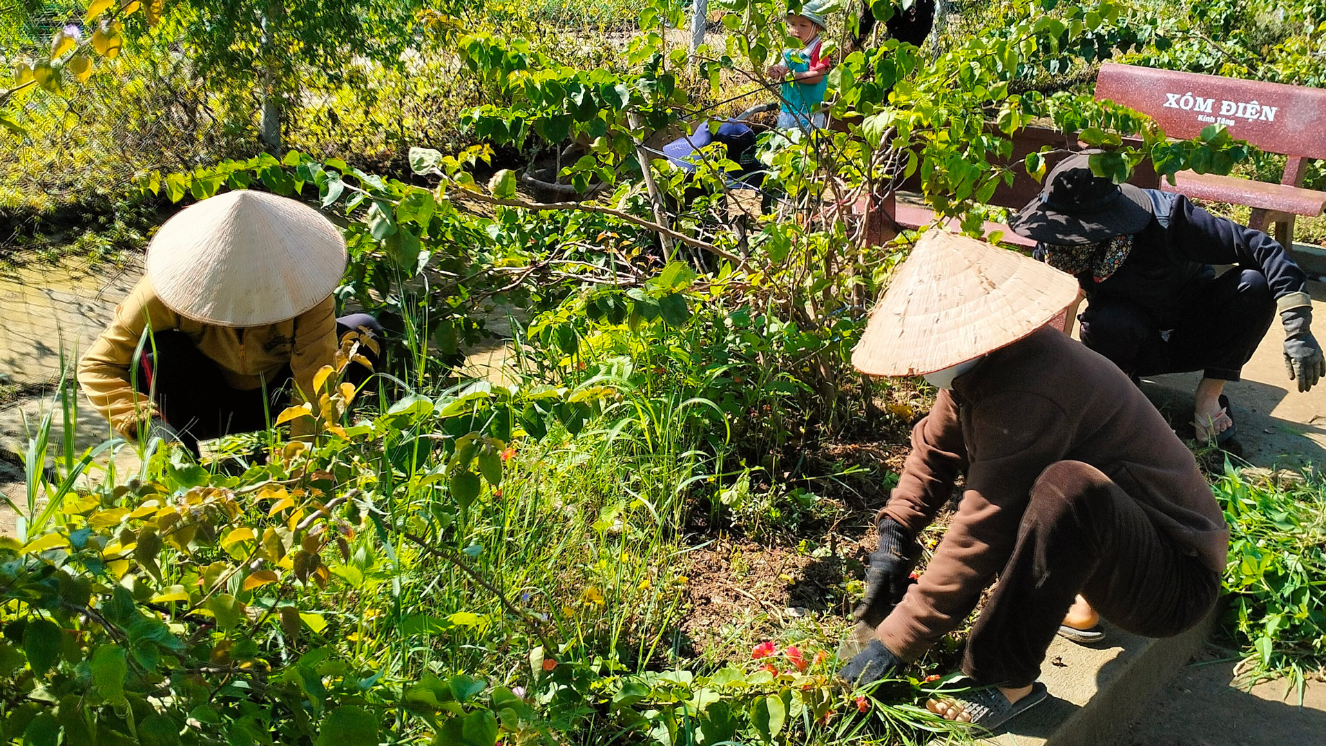
[[[134,390],[130,370],[138,341],[149,328],[164,332],[178,327],[179,317],[166,308],[143,277],[115,308],[114,320],[78,361],[78,386],[93,408],[126,438],[135,437],[138,423],[156,414],[151,398]]]

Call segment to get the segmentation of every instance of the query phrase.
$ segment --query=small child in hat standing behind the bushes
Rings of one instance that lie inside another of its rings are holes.
[[[788,33],[801,41],[801,49],[785,49],[782,62],[766,70],[770,80],[782,81],[778,129],[801,127],[810,131],[825,126],[825,113],[818,109],[823,104],[825,89],[829,88],[829,68],[833,61],[821,57],[823,45],[819,35],[825,29],[823,15],[829,3],[830,0],[806,0],[800,13],[788,12]]]

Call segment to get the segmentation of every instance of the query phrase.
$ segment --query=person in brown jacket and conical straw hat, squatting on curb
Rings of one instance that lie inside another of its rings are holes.
[[[1192,453],[1116,365],[1046,325],[1077,281],[1013,251],[931,230],[853,352],[869,376],[924,376],[935,406],[876,515],[858,645],[869,684],[957,629],[998,584],[963,656],[973,689],[927,706],[997,727],[1045,698],[1045,650],[1078,595],[1106,621],[1177,634],[1220,595],[1229,531]],[[915,583],[916,536],[965,473]],[[855,654],[853,654],[855,653]]]

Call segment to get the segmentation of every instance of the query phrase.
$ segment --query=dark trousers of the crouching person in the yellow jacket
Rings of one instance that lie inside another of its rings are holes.
[[[382,327],[367,313],[353,313],[335,320],[339,340],[346,332],[365,327],[375,340],[382,340]],[[152,352],[155,346],[155,352]],[[359,348],[377,368],[378,356]],[[346,366],[345,381],[362,386],[371,372],[358,362]],[[264,430],[289,406],[293,374],[285,366],[267,381],[264,389],[232,389],[216,361],[207,357],[187,335],[178,331],[156,332],[138,361],[135,381],[141,393],[151,393],[162,419],[175,427],[180,441],[198,454],[198,442],[237,433]]]

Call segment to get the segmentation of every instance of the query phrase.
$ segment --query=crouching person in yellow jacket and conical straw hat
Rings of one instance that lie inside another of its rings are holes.
[[[335,316],[345,267],[341,231],[306,204],[249,190],[204,199],[152,236],[146,275],[84,354],[78,384],[130,439],[196,454],[200,439],[265,429],[285,406],[317,401],[314,373],[345,333],[373,338],[359,352],[377,361],[378,323]],[[355,386],[369,376],[346,369]],[[290,427],[308,434],[312,418]]]

